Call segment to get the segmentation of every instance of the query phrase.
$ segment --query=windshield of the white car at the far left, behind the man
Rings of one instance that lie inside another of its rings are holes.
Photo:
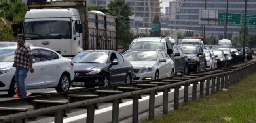
[[[0,62],[13,62],[15,49],[0,49]]]

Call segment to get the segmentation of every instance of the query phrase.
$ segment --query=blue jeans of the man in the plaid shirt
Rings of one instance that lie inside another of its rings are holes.
[[[27,68],[16,68],[15,71],[15,81],[19,85],[19,90],[21,91],[21,97],[27,97],[26,92],[26,82],[28,69]]]

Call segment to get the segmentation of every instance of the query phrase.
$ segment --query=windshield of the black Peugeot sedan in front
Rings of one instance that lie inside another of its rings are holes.
[[[72,58],[74,63],[106,63],[108,51],[85,51]]]

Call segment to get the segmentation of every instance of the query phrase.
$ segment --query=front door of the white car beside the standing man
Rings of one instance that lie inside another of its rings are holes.
[[[36,87],[39,88],[46,85],[44,81],[44,74],[46,73],[46,70],[42,69],[42,67],[44,67],[44,62],[41,61],[41,56],[39,54],[38,49],[32,50],[32,55],[34,59],[34,73],[28,72],[27,74],[26,84],[28,89]]]

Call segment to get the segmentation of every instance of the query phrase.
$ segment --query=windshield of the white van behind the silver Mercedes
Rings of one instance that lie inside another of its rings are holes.
[[[133,42],[130,46],[130,50],[137,50],[137,49],[162,49],[165,51],[165,43],[153,42],[153,41]]]

